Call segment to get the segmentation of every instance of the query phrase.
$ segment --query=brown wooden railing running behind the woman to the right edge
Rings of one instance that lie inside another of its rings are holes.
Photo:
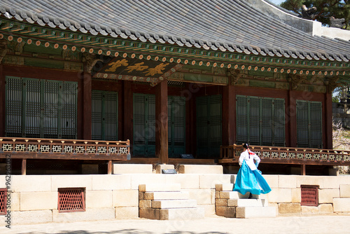
[[[249,146],[261,159],[261,163],[300,165],[350,165],[350,151],[330,149],[305,149],[276,146]],[[237,163],[243,147],[221,146],[222,163]]]

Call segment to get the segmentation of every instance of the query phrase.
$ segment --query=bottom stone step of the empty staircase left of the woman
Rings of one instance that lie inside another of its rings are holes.
[[[204,208],[178,208],[178,209],[139,209],[140,218],[158,220],[193,220],[204,219]]]

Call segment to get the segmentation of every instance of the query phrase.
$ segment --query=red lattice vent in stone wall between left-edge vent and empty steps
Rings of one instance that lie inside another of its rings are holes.
[[[85,211],[85,188],[58,188],[58,211]]]

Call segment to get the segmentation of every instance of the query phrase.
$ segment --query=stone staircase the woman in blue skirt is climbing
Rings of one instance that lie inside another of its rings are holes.
[[[234,184],[216,184],[216,215],[241,219],[276,217],[276,208],[269,207],[266,199],[258,195],[248,199],[248,193],[241,195],[232,191],[233,187]]]

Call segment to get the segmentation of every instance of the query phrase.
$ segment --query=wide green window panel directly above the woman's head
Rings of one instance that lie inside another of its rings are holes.
[[[284,99],[237,95],[237,144],[285,146]]]

